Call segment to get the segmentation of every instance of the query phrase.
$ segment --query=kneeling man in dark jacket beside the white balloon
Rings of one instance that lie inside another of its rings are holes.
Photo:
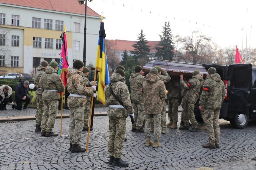
[[[29,82],[20,82],[19,85],[15,89],[15,101],[17,105],[12,105],[12,108],[17,110],[21,110],[22,102],[26,102],[23,106],[23,109],[28,110],[27,106],[30,102],[30,98],[28,97],[28,85]]]

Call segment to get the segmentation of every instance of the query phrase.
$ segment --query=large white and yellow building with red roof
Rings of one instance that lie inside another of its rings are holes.
[[[69,65],[83,60],[85,5],[77,0],[0,0],[0,75],[59,62],[66,26]],[[100,15],[87,7],[86,63],[95,64]]]

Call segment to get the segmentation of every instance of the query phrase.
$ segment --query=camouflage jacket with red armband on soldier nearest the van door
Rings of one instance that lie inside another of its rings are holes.
[[[220,109],[224,98],[225,87],[220,75],[210,75],[204,82],[199,105],[204,109]]]

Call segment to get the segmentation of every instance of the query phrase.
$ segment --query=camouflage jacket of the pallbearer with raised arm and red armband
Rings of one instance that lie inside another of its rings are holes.
[[[203,78],[200,74],[192,76],[192,79],[185,83],[184,80],[180,81],[181,86],[185,89],[183,99],[190,103],[196,103],[200,88],[203,85]]]

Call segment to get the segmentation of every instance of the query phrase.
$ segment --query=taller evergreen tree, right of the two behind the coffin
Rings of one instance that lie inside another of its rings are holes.
[[[156,47],[157,52],[155,56],[158,57],[158,59],[172,61],[174,57],[174,43],[172,42],[170,21],[168,21],[168,23],[165,21],[163,31],[161,33],[162,35],[159,35],[160,42]]]

